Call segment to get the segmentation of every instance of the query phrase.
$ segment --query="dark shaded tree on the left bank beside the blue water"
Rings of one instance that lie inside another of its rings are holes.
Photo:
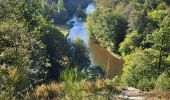
[[[51,67],[48,68],[48,79],[57,80],[60,71],[71,63],[72,51],[70,44],[57,27],[47,26],[44,30],[48,30],[48,32],[42,36],[42,41],[46,45],[51,64]]]

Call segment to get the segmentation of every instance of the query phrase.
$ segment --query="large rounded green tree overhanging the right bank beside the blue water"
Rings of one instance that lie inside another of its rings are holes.
[[[120,42],[126,34],[126,21],[113,15],[111,9],[98,7],[88,18],[88,29],[91,37],[104,47],[117,52]]]

